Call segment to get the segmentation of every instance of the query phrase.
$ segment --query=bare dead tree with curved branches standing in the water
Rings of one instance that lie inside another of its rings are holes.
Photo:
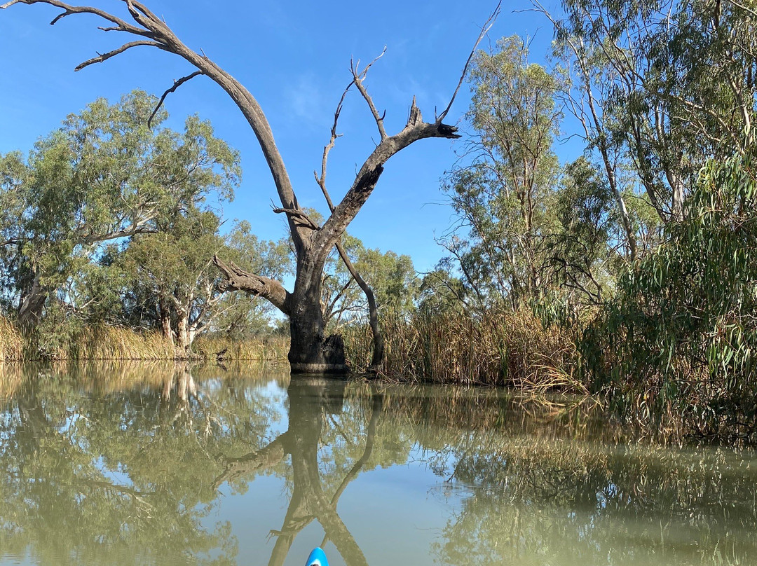
[[[257,141],[260,143],[260,148],[263,150],[263,156],[268,163],[271,176],[273,176],[273,182],[276,185],[276,191],[279,194],[279,201],[281,202],[281,207],[276,209],[276,212],[286,214],[288,219],[291,240],[297,253],[297,271],[294,280],[294,289],[290,292],[284,288],[280,281],[245,272],[233,263],[226,264],[216,257],[214,261],[226,278],[224,288],[226,290],[247,291],[248,293],[259,295],[269,300],[282,313],[288,316],[291,328],[291,346],[288,358],[292,372],[324,373],[346,371],[344,346],[341,343],[341,337],[325,336],[320,308],[321,275],[326,257],[328,257],[332,248],[340,243],[341,235],[347,229],[347,225],[350,224],[360,211],[360,208],[368,200],[378,182],[378,178],[384,170],[384,164],[391,156],[420,139],[459,138],[459,135],[456,133],[457,128],[445,124],[443,120],[447,117],[459,87],[463,82],[473,51],[475,51],[478,42],[481,41],[481,38],[491,27],[491,22],[497,16],[500,5],[497,5],[497,8],[484,24],[468,62],[463,69],[463,75],[460,77],[456,89],[450,97],[450,103],[447,104],[447,107],[438,117],[435,117],[433,122],[425,122],[423,120],[421,111],[416,106],[415,98],[413,98],[410,115],[403,129],[394,135],[388,135],[384,127],[384,116],[378,111],[363,84],[371,64],[366,65],[362,70],[357,65],[352,66],[352,82],[350,84],[354,84],[366,101],[378,128],[380,141],[358,170],[354,182],[344,195],[344,198],[342,198],[339,204],[332,207],[331,216],[326,219],[323,225],[319,226],[310,221],[299,206],[284,160],[279,153],[279,149],[276,148],[271,127],[266,119],[266,115],[263,114],[263,109],[254,96],[240,82],[227,73],[226,70],[223,70],[211,61],[210,58],[207,58],[205,54],[188,48],[173,33],[164,20],[153,14],[141,2],[136,2],[136,0],[123,0],[123,2],[126,5],[126,10],[129,14],[128,17],[118,17],[100,8],[70,5],[59,0],[11,0],[11,2],[6,2],[0,8],[8,8],[14,4],[47,4],[62,10],[61,14],[58,14],[51,21],[51,25],[58,23],[64,17],[74,14],[93,14],[100,17],[106,23],[100,27],[101,30],[106,32],[125,32],[136,37],[134,41],[126,42],[113,51],[98,54],[97,57],[84,61],[76,67],[76,70],[82,70],[89,65],[107,61],[107,59],[117,54],[140,46],[154,47],[179,55],[179,57],[194,67],[195,71],[174,82],[173,86],[167,89],[160,98],[158,107],[160,107],[160,104],[163,103],[170,92],[174,92],[183,83],[200,75],[212,79],[226,91],[247,119],[257,137]],[[327,154],[328,151],[325,151],[324,163]],[[322,169],[322,177],[319,179],[319,185],[322,188],[326,186],[325,164]],[[365,290],[366,287],[363,287],[363,289]],[[376,325],[374,330],[377,328],[378,326]]]

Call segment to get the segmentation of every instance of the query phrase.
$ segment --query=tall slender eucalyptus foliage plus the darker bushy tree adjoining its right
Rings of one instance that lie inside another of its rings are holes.
[[[616,269],[618,222],[593,163],[563,167],[553,151],[562,77],[530,63],[513,36],[476,55],[469,81],[467,160],[444,185],[459,225],[439,267],[459,273],[466,306],[518,308],[556,291],[599,302]]]

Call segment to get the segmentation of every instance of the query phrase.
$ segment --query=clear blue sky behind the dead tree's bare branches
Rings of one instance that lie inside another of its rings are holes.
[[[397,132],[407,120],[413,95],[426,118],[434,116],[435,107],[446,107],[479,28],[496,4],[143,1],[186,45],[203,49],[260,101],[301,204],[322,212],[326,206],[313,170],[320,168],[335,105],[350,79],[350,58],[370,61],[386,45],[366,86],[379,110],[386,110],[388,133]],[[90,5],[125,14],[117,0]],[[529,8],[528,0],[503,2],[502,14],[481,47],[517,33],[532,38],[531,61],[543,61],[552,27]],[[547,3],[547,8],[553,6]],[[73,15],[49,26],[58,12],[47,5],[0,11],[0,152],[28,151],[67,114],[95,98],[116,101],[136,88],[160,95],[173,79],[193,70],[176,55],[138,47],[74,73],[73,67],[95,51],[130,39],[98,30],[102,23],[93,16]],[[447,122],[457,123],[468,104],[469,91],[463,85]],[[170,126],[178,129],[186,115],[199,114],[241,152],[242,185],[235,201],[223,205],[223,215],[247,219],[262,238],[282,237],[282,219],[270,210],[276,191],[269,171],[252,130],[226,93],[210,79],[197,77],[170,95],[166,108]],[[347,97],[338,131],[344,137],[330,154],[328,174],[335,201],[349,188],[378,136],[357,92]],[[434,238],[453,223],[439,180],[453,165],[455,151],[462,149],[462,140],[430,139],[392,157],[349,232],[369,247],[409,254],[419,271],[432,269],[443,252]]]

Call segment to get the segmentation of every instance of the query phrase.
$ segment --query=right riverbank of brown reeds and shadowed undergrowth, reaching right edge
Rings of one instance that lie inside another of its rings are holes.
[[[527,308],[475,316],[390,314],[382,318],[381,373],[392,381],[590,396],[624,426],[663,442],[757,443],[757,382],[749,369],[713,372],[686,355],[686,344],[667,364],[656,364],[667,344],[640,344],[643,336],[613,328],[601,311],[569,322]],[[353,371],[365,371],[372,352],[369,328],[350,326],[343,335]],[[706,338],[693,334],[688,341]],[[644,359],[650,362],[637,362]]]

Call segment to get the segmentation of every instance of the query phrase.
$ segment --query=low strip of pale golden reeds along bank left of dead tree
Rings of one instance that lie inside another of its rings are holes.
[[[123,326],[83,326],[64,332],[20,330],[0,317],[0,359],[8,362],[83,359],[286,359],[288,337],[246,340],[200,336],[186,353],[160,332]]]

